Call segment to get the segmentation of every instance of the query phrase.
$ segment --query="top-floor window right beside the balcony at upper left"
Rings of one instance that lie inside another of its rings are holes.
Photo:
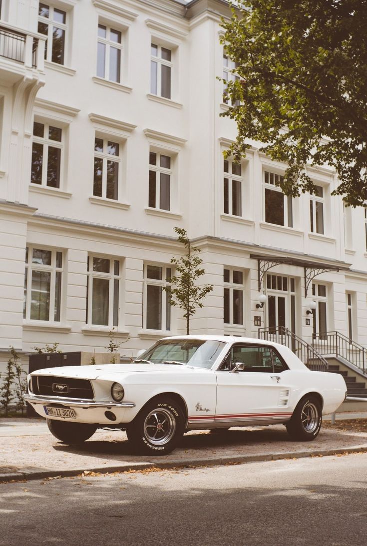
[[[40,3],[38,14],[38,32],[47,36],[45,59],[64,64],[66,11]]]

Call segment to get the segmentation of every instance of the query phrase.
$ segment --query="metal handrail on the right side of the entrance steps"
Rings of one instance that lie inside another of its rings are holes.
[[[320,354],[344,358],[363,373],[367,372],[367,349],[344,334],[337,331],[313,334],[312,346]]]

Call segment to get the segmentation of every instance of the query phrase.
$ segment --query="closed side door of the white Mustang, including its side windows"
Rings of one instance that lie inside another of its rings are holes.
[[[233,372],[236,364],[243,364],[243,371]],[[234,343],[216,371],[215,421],[240,424],[287,417],[291,391],[286,384],[287,369],[270,346]]]

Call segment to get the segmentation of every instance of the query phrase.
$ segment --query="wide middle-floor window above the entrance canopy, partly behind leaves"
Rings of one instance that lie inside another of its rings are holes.
[[[293,227],[293,201],[291,195],[284,195],[277,184],[283,176],[264,171],[265,182],[265,222]]]

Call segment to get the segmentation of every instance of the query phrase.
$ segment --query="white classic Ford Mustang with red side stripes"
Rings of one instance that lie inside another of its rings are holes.
[[[132,364],[37,370],[28,390],[64,443],[108,427],[126,430],[138,453],[164,455],[193,429],[284,424],[295,440],[313,440],[347,389],[277,343],[198,335],[159,340]]]

